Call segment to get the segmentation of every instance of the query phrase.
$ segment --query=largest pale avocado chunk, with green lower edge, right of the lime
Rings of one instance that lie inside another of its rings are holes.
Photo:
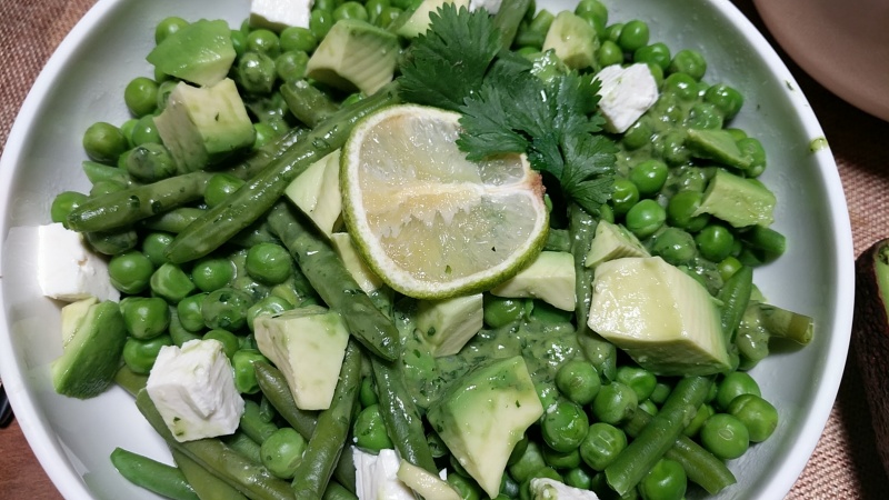
[[[660,257],[599,264],[587,324],[658,374],[731,368],[716,301],[695,278]]]

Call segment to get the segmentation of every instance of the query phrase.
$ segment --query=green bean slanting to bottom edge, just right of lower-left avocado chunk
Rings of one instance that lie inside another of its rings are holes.
[[[333,392],[330,408],[318,416],[318,426],[312,432],[302,461],[297,467],[293,490],[299,499],[320,499],[351,428],[352,414],[361,384],[361,349],[354,341],[346,348],[340,369],[340,380]]]

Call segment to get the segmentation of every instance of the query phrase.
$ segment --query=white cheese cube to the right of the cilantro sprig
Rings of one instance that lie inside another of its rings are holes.
[[[597,78],[602,82],[599,110],[609,132],[626,132],[658,100],[658,82],[648,64],[609,66]]]

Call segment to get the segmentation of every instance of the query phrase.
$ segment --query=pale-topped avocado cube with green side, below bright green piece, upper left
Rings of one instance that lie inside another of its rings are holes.
[[[154,124],[180,173],[217,163],[256,139],[238,88],[228,78],[202,88],[179,82]]]

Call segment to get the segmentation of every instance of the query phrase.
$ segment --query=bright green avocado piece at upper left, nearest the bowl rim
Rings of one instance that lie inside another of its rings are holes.
[[[228,23],[201,19],[163,39],[146,59],[166,74],[212,86],[226,78],[234,57]]]

